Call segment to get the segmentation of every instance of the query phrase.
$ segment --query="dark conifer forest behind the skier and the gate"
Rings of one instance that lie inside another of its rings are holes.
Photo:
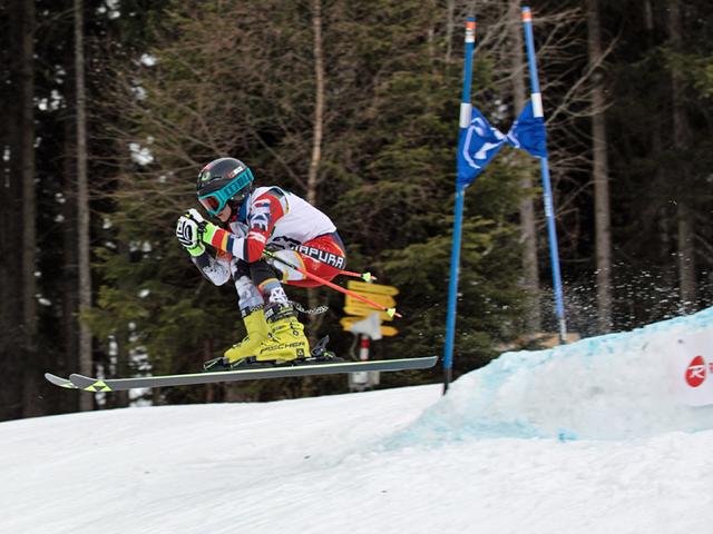
[[[711,305],[713,18],[691,0],[537,0],[568,328]],[[243,337],[232,285],[174,237],[207,161],[336,222],[351,270],[399,288],[373,357],[441,354],[462,86],[507,130],[529,97],[512,0],[0,1],[0,419],[126,406],[45,383],[199,368]],[[345,280],[340,280],[342,284]],[[340,354],[343,296],[291,290]],[[504,151],[468,189],[456,376],[557,330],[539,165]],[[440,379],[382,375],[382,387]],[[153,403],[346,390],[344,377],[150,392]]]

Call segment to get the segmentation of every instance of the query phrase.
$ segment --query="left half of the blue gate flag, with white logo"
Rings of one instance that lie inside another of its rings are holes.
[[[467,128],[458,138],[458,187],[472,184],[507,141],[506,136],[488,122],[473,107]]]

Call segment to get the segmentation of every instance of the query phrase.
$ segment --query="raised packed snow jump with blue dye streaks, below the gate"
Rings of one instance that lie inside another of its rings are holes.
[[[625,439],[713,428],[713,406],[675,398],[671,339],[710,328],[713,308],[549,350],[505,353],[456,380],[391,445],[469,437]]]

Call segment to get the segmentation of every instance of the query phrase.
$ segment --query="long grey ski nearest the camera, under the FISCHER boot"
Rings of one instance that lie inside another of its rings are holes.
[[[373,362],[304,364],[283,367],[261,367],[255,369],[247,368],[238,370],[217,370],[213,373],[141,376],[137,378],[99,379],[90,376],[74,374],[69,376],[69,379],[75,387],[85,392],[124,392],[137,387],[150,388],[165,386],[191,386],[196,384],[214,384],[217,382],[242,382],[261,380],[264,378],[290,378],[295,376],[334,375],[364,370],[388,372],[428,369],[430,367],[433,367],[436,365],[436,362],[438,362],[438,356],[428,356],[423,358],[383,359]],[[55,384],[55,382],[52,383]]]

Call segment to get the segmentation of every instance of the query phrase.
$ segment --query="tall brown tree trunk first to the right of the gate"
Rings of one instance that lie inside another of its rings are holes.
[[[594,67],[602,58],[599,1],[587,2],[589,63]],[[593,70],[592,89],[592,159],[594,178],[594,220],[597,267],[597,323],[599,333],[612,329],[612,227],[609,208],[609,176],[606,149],[606,120],[604,117],[604,87],[599,69]]]

